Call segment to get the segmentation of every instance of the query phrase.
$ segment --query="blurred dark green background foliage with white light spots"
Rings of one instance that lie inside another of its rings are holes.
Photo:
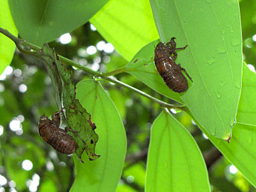
[[[254,70],[256,65],[256,1],[241,0],[243,59]],[[90,23],[67,33],[49,44],[58,54],[100,72],[123,67],[127,61],[97,33]],[[76,83],[92,78],[74,70]],[[129,74],[117,79],[165,102],[172,103]],[[116,191],[143,191],[148,142],[152,122],[161,108],[137,93],[101,81],[115,102],[127,132],[127,157]],[[72,157],[59,154],[38,135],[42,114],[57,111],[51,79],[44,65],[34,58],[15,51],[12,64],[0,76],[0,192],[1,191],[68,191],[74,181]],[[173,115],[191,132],[209,171],[212,191],[256,191],[196,127],[191,117],[172,109]]]

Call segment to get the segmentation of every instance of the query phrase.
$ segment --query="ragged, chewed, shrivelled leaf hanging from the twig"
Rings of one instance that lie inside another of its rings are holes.
[[[76,140],[79,146],[76,150],[77,157],[81,160],[85,150],[90,160],[97,159],[99,156],[95,154],[95,145],[99,136],[94,131],[96,125],[92,123],[91,115],[76,99],[76,86],[72,82],[72,71],[61,63],[54,49],[49,48],[47,44],[44,44],[35,56],[43,60],[47,67],[56,93],[58,108],[60,110],[64,108],[63,111],[65,111],[61,122],[69,128],[68,134]]]

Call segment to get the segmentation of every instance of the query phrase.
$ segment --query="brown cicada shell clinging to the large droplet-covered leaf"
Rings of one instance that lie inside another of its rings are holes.
[[[171,39],[171,42],[172,43],[174,42],[174,38]],[[178,48],[178,49],[185,49],[185,48]],[[174,92],[178,92],[178,93],[186,92],[186,90],[188,90],[188,81],[181,72],[183,68],[180,68],[180,64],[177,65],[174,61],[175,58],[177,57],[177,53],[175,52],[175,47],[172,47],[172,49],[170,49],[170,45],[168,44],[164,45],[162,42],[159,42],[159,44],[157,44],[156,46],[154,53],[155,53],[155,59],[154,59],[155,65],[160,76],[163,78],[164,83]],[[173,53],[174,53],[174,56],[172,57]]]

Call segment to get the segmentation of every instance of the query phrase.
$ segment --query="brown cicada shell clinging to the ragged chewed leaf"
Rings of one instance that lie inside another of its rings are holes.
[[[43,140],[58,152],[62,154],[74,153],[78,148],[76,141],[57,125],[60,125],[60,116],[57,116],[56,113],[52,115],[52,120],[42,115],[38,125],[38,132]]]

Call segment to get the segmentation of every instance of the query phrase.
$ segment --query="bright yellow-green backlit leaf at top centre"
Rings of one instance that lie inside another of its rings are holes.
[[[141,47],[159,38],[148,0],[111,0],[90,22],[128,61]]]

